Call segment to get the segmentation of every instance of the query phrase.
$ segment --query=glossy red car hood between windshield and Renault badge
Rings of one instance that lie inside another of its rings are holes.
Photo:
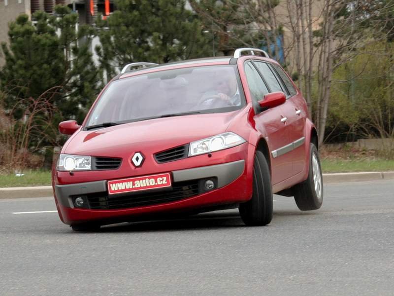
[[[62,153],[123,157],[131,151],[156,153],[226,131],[239,111],[193,114],[131,122],[91,131],[80,130]]]

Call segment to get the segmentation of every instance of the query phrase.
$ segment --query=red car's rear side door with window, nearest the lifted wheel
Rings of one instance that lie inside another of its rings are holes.
[[[301,93],[294,87],[289,76],[277,64],[269,64],[273,73],[283,83],[287,91],[286,103],[281,106],[290,127],[290,138],[294,149],[290,151],[293,160],[294,174],[301,172],[305,167],[305,121],[308,117],[306,102]]]

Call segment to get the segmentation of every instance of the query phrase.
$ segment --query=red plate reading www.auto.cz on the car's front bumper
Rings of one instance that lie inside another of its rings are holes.
[[[108,193],[124,193],[171,186],[169,173],[108,181]]]

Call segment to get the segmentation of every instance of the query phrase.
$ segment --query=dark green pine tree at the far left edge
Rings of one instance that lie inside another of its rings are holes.
[[[6,94],[5,108],[12,108],[19,99],[38,98],[64,82],[64,58],[56,28],[48,25],[46,13],[38,11],[34,17],[36,26],[26,14],[18,16],[9,24],[9,47],[5,42],[1,44],[5,65],[0,81]]]

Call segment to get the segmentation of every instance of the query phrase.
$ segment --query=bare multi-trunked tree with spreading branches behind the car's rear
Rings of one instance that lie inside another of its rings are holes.
[[[259,38],[263,38],[273,57],[283,50],[284,66],[298,76],[296,83],[318,129],[320,144],[324,141],[335,69],[351,61],[369,43],[379,38],[394,39],[394,2],[390,0],[189,2],[198,14],[215,24],[215,30],[228,37],[226,40],[260,47]],[[280,49],[276,40],[282,34],[285,42]]]

